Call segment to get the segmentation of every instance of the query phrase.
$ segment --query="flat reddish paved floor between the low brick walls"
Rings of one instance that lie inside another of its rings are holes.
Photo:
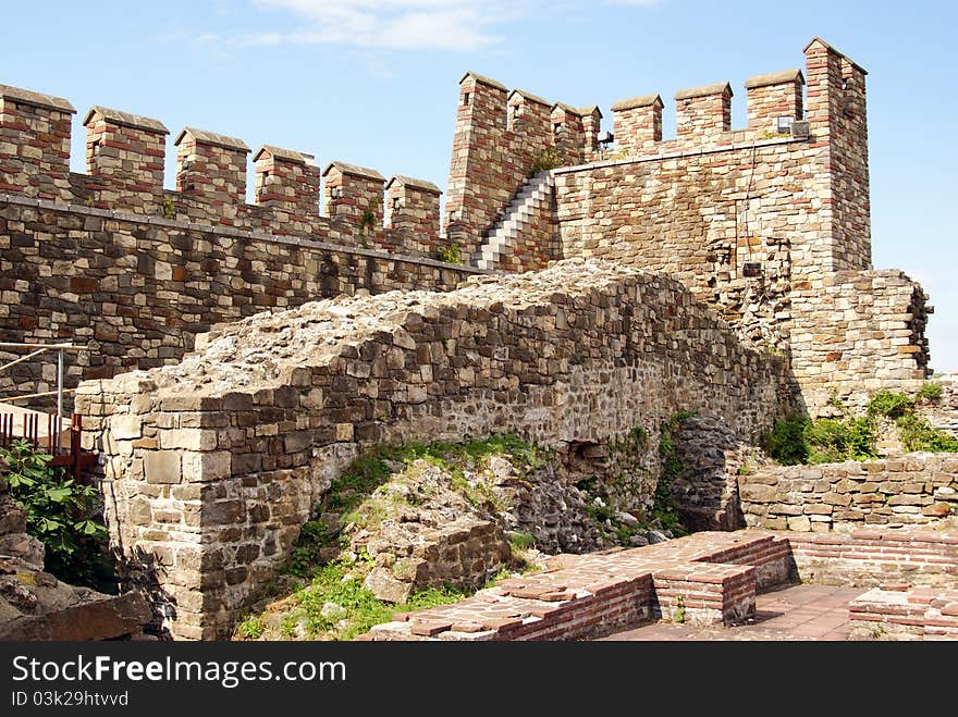
[[[616,632],[603,640],[847,640],[848,603],[863,588],[789,585],[756,598],[756,618],[746,625],[715,626],[655,622]]]

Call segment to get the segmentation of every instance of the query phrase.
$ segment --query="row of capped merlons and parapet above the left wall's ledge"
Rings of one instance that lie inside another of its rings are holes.
[[[433,199],[393,189],[410,211],[396,212],[386,227],[390,182],[374,170],[332,162],[321,173],[312,154],[270,145],[253,153],[240,138],[184,127],[173,141],[171,191],[163,187],[167,126],[100,106],[83,122],[87,173],[71,173],[74,113],[63,98],[0,85],[0,193],[403,254],[440,246],[435,185],[404,177],[397,187],[428,185]],[[246,202],[250,154],[254,203]]]

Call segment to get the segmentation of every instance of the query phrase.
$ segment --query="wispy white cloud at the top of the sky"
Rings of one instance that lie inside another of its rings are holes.
[[[501,41],[496,25],[525,16],[528,2],[508,0],[254,0],[293,14],[300,27],[268,30],[251,45],[352,45],[393,49],[476,50]]]

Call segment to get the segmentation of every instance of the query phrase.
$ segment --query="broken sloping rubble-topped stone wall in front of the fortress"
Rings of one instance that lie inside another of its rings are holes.
[[[363,448],[500,432],[598,443],[705,409],[748,435],[774,420],[782,383],[778,361],[681,284],[578,261],[260,314],[198,348],[77,394],[113,540],[152,563],[188,638],[225,634]]]

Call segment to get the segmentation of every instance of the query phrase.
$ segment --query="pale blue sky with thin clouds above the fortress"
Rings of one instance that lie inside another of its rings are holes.
[[[0,83],[278,145],[445,186],[466,70],[554,101],[661,92],[727,79],[733,123],[747,77],[803,64],[821,36],[869,72],[876,268],[921,281],[932,366],[958,371],[951,180],[951,2],[699,0],[0,0]],[[607,126],[605,128],[611,128]],[[172,137],[171,137],[172,140]],[[172,183],[169,149],[168,186]]]

